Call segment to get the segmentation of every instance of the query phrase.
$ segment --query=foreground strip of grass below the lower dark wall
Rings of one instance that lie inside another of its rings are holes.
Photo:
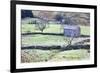
[[[21,51],[21,62],[47,62],[47,61],[75,61],[88,60],[89,53],[87,50],[40,50],[40,49],[26,49]]]

